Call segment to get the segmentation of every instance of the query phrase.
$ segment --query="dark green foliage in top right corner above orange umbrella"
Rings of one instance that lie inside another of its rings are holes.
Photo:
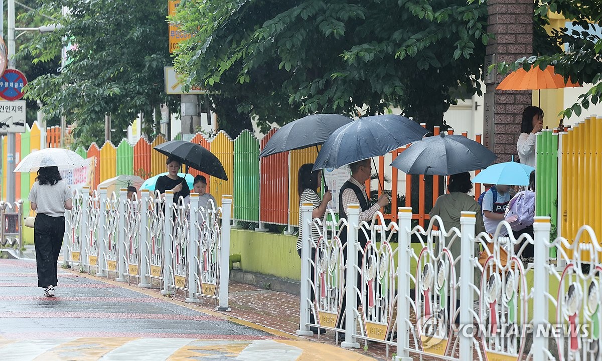
[[[561,13],[572,22],[574,29],[565,27],[545,33],[542,27],[550,25],[550,13]],[[592,83],[594,86],[559,116],[580,116],[582,109],[597,104],[602,98],[602,2],[599,0],[541,0],[536,3],[534,15],[535,39],[533,52],[538,55],[520,58],[514,63],[497,64],[498,71],[507,73],[532,66],[545,69],[553,65],[554,70],[573,82]],[[594,25],[598,24],[598,25]],[[565,51],[565,45],[568,48]]]

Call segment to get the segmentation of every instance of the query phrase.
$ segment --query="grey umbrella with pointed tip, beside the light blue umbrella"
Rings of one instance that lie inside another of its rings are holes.
[[[413,143],[391,163],[406,174],[448,176],[485,169],[497,156],[463,135],[436,135]]]

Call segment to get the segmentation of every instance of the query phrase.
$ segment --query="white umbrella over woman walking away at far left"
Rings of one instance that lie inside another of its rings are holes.
[[[70,170],[90,165],[73,150],[63,148],[46,148],[30,153],[21,159],[14,171],[30,172],[41,167],[58,167],[58,170]]]

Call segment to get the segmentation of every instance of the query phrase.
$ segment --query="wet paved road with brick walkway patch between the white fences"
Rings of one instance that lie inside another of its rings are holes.
[[[299,312],[292,295],[232,285],[226,315],[213,302],[190,306],[183,294],[172,300],[133,279],[62,269],[58,279],[56,296],[45,298],[34,261],[0,259],[2,360],[373,360],[291,335]]]

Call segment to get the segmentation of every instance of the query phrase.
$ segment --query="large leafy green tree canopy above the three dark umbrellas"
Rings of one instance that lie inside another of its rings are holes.
[[[453,91],[479,91],[486,6],[464,0],[187,0],[172,19],[188,85],[265,130],[302,114],[382,114],[442,123]],[[235,105],[235,106],[233,106]]]

